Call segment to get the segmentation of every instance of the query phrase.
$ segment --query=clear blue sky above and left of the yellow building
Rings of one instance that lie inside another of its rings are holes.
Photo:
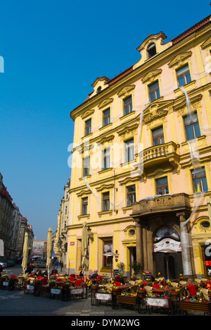
[[[210,9],[210,0],[1,1],[0,172],[34,238],[56,230],[71,173],[70,111],[97,77],[139,61],[148,35],[162,31],[168,42]]]

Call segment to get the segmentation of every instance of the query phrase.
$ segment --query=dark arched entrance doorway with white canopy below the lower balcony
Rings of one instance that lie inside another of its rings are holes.
[[[181,242],[171,226],[162,226],[154,236],[155,271],[165,279],[178,279],[182,273]]]

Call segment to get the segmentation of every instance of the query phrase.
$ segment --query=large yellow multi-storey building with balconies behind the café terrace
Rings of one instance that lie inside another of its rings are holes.
[[[170,42],[148,36],[138,63],[97,78],[71,111],[70,272],[87,222],[90,274],[106,270],[106,252],[127,275],[134,260],[152,276],[211,274],[210,18]]]

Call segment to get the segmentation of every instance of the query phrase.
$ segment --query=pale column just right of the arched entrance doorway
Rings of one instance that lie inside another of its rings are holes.
[[[189,234],[187,230],[187,224],[185,224],[186,216],[185,212],[178,213],[180,221],[180,231],[181,231],[181,255],[182,255],[182,263],[184,276],[193,275],[192,266],[191,266],[191,243],[189,240]]]

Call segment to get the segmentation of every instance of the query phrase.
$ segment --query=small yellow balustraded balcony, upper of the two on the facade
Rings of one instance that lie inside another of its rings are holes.
[[[179,145],[168,142],[143,150],[143,169],[150,169],[170,163],[179,173]]]

